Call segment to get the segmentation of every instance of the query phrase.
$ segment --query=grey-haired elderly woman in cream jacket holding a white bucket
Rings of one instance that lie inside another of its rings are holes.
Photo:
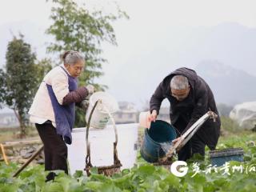
[[[74,107],[82,102],[93,88],[78,88],[78,76],[85,66],[82,54],[66,51],[63,64],[54,67],[43,78],[30,107],[30,122],[35,123],[42,139],[45,154],[45,170],[67,169],[67,144],[71,144],[71,130],[74,126]],[[46,181],[54,179],[54,173]]]

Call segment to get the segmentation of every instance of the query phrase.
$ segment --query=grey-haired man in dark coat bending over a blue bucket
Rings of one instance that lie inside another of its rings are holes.
[[[208,110],[218,114],[214,94],[208,84],[194,70],[179,68],[157,87],[150,99],[150,121],[155,121],[162,100],[170,102],[170,122],[176,128],[177,135],[186,132]],[[214,150],[220,134],[220,118],[207,120],[185,146],[178,152],[178,160],[186,161],[193,154],[205,155],[205,146]],[[177,142],[177,138],[174,142]]]

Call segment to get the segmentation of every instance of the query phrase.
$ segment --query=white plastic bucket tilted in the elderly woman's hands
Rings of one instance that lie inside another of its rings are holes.
[[[118,102],[110,94],[106,92],[98,91],[90,96],[90,104],[86,112],[86,122],[88,122],[91,110],[94,107],[95,102],[98,102],[94,113],[90,119],[90,127],[97,129],[104,129],[109,122],[110,116],[107,113],[106,109],[110,114],[114,114],[118,110]]]

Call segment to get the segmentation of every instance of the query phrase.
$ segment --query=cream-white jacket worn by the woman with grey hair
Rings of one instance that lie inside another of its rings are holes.
[[[61,66],[66,70],[64,65]],[[68,76],[61,66],[54,67],[43,78],[29,110],[30,122],[42,124],[46,120],[50,120],[55,126],[54,109],[46,84],[52,86],[58,103],[62,105],[63,98],[69,93],[69,82]]]

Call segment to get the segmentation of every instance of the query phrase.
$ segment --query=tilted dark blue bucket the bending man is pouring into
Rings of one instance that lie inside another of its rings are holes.
[[[168,122],[156,120],[151,122],[150,129],[145,129],[144,140],[140,150],[142,158],[146,162],[158,162],[159,158],[165,156],[162,150],[162,142],[171,142],[176,138],[176,132],[173,126]]]

